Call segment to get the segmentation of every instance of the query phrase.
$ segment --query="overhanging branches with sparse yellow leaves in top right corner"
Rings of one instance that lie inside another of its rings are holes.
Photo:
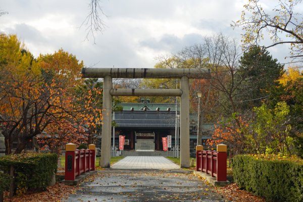
[[[272,2],[249,0],[244,5],[240,20],[233,22],[233,27],[242,27],[244,47],[251,45],[269,48],[280,44],[290,45],[290,58],[302,61],[303,58],[303,21],[296,8],[301,0]],[[271,11],[267,8],[274,8]],[[267,33],[271,44],[262,45]]]

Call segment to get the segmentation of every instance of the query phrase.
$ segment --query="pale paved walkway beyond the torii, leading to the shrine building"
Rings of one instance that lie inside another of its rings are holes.
[[[165,157],[125,157],[113,166],[113,169],[180,169],[178,165]]]

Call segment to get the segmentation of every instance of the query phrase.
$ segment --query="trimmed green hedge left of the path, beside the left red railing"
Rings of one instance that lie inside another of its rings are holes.
[[[58,157],[56,154],[19,154],[0,158],[0,170],[9,174],[15,168],[16,193],[27,190],[44,190],[54,172],[57,172]]]

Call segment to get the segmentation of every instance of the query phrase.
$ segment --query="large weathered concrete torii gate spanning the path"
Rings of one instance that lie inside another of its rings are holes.
[[[180,96],[180,166],[189,168],[188,79],[209,78],[208,69],[83,68],[81,73],[82,78],[104,78],[101,167],[111,166],[112,96]],[[180,89],[114,89],[113,78],[178,78]]]

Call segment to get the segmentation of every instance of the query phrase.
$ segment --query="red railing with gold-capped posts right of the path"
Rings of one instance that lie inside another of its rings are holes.
[[[217,181],[226,181],[227,174],[227,147],[218,144],[217,151],[203,150],[203,146],[196,146],[196,171],[205,172]]]

